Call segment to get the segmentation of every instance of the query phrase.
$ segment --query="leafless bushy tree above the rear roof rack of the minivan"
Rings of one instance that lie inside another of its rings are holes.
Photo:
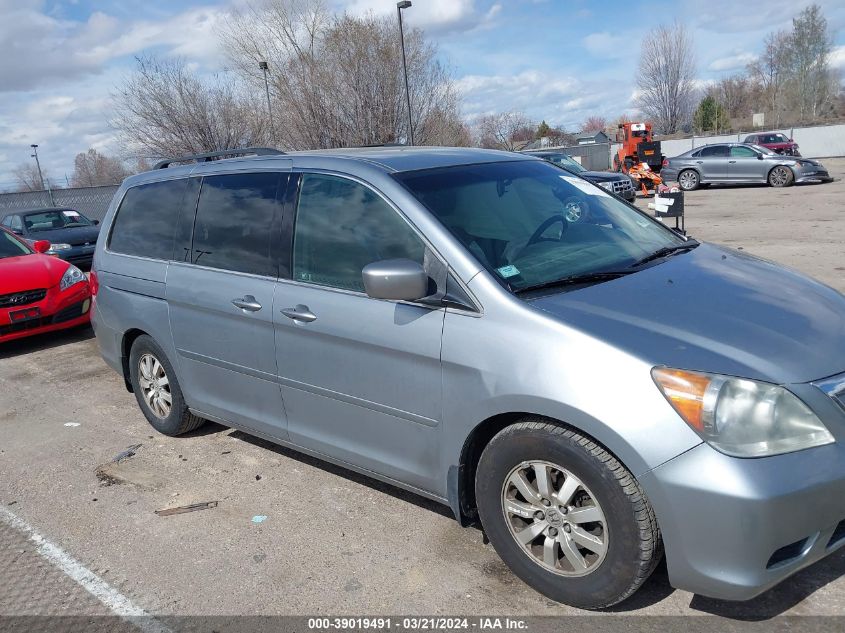
[[[181,59],[137,62],[113,95],[112,125],[131,154],[159,158],[266,142],[260,101],[235,81],[202,81]]]

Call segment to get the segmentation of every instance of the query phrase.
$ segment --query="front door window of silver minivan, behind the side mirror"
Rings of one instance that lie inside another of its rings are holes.
[[[372,190],[344,178],[305,174],[293,251],[294,279],[363,292],[364,266],[397,258],[422,264],[425,246]]]

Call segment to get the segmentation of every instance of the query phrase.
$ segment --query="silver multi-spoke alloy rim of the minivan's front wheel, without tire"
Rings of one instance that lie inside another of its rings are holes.
[[[547,571],[585,576],[604,561],[608,529],[601,506],[562,466],[519,464],[502,487],[502,510],[511,536]]]

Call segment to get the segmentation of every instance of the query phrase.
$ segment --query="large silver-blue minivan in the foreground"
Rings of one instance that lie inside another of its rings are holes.
[[[828,286],[530,156],[170,164],[124,181],[92,272],[161,433],[214,420],[434,499],[579,607],[664,550],[673,586],[739,600],[845,545]]]

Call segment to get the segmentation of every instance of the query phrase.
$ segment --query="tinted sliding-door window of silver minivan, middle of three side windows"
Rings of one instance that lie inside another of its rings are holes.
[[[273,235],[280,180],[278,172],[203,178],[193,263],[275,277]]]

